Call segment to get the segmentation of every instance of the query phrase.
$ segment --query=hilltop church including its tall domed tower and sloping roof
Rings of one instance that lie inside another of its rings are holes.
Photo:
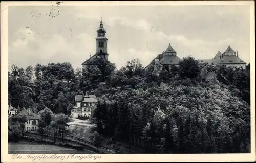
[[[100,25],[97,30],[97,37],[96,39],[96,53],[93,56],[90,56],[90,58],[82,63],[82,66],[88,66],[92,65],[91,61],[97,57],[104,58],[108,60],[109,54],[108,54],[108,38],[106,38],[106,30],[103,27],[102,19],[100,20]]]

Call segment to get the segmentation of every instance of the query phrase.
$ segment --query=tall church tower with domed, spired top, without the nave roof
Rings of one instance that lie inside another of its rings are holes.
[[[102,18],[100,20],[100,25],[97,30],[96,38],[96,54],[106,60],[108,60],[108,38],[106,38],[106,30],[103,27]]]

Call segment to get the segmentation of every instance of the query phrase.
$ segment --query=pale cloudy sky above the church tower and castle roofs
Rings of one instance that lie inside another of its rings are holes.
[[[147,66],[172,45],[179,58],[211,59],[228,45],[250,62],[249,6],[9,6],[9,68],[70,62],[96,52],[102,16],[109,60],[117,69]]]

